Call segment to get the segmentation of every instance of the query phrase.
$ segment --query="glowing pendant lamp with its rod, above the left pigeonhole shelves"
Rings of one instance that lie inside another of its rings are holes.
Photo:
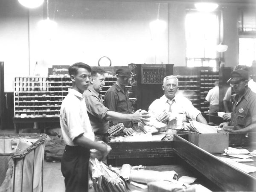
[[[57,23],[49,19],[49,0],[47,0],[47,19],[38,22],[40,32],[47,37],[50,37],[56,32]]]

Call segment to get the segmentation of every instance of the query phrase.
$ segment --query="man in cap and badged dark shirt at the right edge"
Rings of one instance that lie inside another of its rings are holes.
[[[248,87],[248,72],[235,70],[227,81],[233,87],[236,96],[232,103],[230,122],[219,125],[224,131],[248,132],[256,129],[256,93]]]

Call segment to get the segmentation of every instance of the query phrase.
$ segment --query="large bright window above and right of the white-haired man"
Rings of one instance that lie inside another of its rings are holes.
[[[218,15],[189,12],[186,15],[186,66],[216,67],[219,38]]]

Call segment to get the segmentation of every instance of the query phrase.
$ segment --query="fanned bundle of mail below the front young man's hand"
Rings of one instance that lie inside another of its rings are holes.
[[[93,188],[96,192],[128,192],[127,182],[110,166],[97,159],[89,160]]]

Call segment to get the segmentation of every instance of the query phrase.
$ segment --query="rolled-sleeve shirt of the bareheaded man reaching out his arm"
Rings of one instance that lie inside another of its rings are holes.
[[[93,131],[101,134],[107,133],[109,122],[105,117],[109,110],[104,106],[101,95],[90,86],[84,91],[84,98]]]

